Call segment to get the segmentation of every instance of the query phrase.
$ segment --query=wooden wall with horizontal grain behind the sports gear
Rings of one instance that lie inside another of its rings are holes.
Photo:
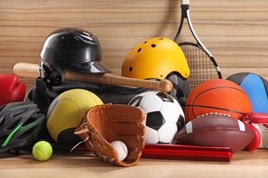
[[[268,79],[268,1],[191,0],[194,29],[226,78],[252,72]],[[124,56],[136,44],[174,38],[179,0],[0,1],[0,73],[16,62],[38,64],[45,38],[60,27],[81,27],[102,44],[103,62],[120,75]],[[180,40],[190,36],[181,32]],[[20,78],[27,90],[34,79]]]

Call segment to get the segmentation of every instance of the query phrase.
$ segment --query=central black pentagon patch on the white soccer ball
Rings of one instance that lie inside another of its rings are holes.
[[[146,126],[158,130],[165,123],[164,116],[161,112],[149,112],[146,116]]]

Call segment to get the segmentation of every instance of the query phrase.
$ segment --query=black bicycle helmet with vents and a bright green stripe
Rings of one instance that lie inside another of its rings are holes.
[[[0,152],[34,143],[45,116],[32,101],[8,103],[0,107]]]

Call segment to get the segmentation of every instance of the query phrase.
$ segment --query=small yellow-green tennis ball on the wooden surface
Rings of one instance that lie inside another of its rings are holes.
[[[38,161],[47,161],[52,156],[52,146],[49,142],[39,141],[32,148],[32,155]]]

